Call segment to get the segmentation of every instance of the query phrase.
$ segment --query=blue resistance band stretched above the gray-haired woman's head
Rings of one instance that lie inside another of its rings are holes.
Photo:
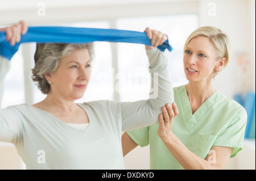
[[[0,32],[0,54],[11,60],[20,43],[91,43],[93,41],[109,41],[151,45],[146,32],[75,27],[28,27],[19,43],[14,47],[6,41],[5,32]],[[172,50],[168,40],[158,47],[162,52]]]

